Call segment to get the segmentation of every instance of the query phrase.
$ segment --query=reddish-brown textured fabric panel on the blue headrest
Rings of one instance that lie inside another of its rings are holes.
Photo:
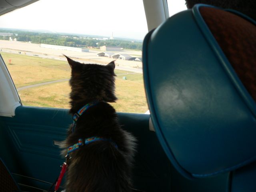
[[[216,8],[201,7],[200,13],[236,74],[256,101],[256,26]]]

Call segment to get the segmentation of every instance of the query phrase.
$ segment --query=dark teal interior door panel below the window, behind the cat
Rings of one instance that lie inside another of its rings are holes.
[[[6,146],[1,157],[21,188],[48,190],[64,161],[54,142],[65,139],[71,116],[66,109],[28,106],[18,107],[15,114],[12,118],[0,117],[0,142]],[[134,188],[170,190],[171,165],[155,133],[148,128],[150,116],[118,113],[118,118],[123,128],[138,139]]]

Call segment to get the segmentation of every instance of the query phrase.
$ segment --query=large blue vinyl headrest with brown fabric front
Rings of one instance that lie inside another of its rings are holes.
[[[256,160],[255,24],[236,11],[199,4],[144,39],[152,122],[168,158],[186,177]]]

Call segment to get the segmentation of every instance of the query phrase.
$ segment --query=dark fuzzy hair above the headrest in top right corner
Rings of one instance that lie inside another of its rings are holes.
[[[199,3],[234,9],[256,20],[256,0],[186,0],[189,9]]]

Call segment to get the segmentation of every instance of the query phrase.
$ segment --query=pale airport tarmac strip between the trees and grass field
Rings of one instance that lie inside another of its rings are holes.
[[[96,54],[102,51],[90,50],[89,52],[75,52],[67,50],[55,50],[51,48],[42,48],[40,47],[40,44],[13,42],[6,40],[0,40],[0,49],[3,52],[26,54],[29,56],[56,60],[66,60],[66,58],[62,56],[62,54],[65,54],[72,59],[82,63],[108,64],[113,60],[113,58],[108,57],[97,57]],[[122,53],[130,54],[131,56],[141,56],[140,51],[123,51]],[[117,59],[115,63],[116,69],[142,74],[142,62]]]

